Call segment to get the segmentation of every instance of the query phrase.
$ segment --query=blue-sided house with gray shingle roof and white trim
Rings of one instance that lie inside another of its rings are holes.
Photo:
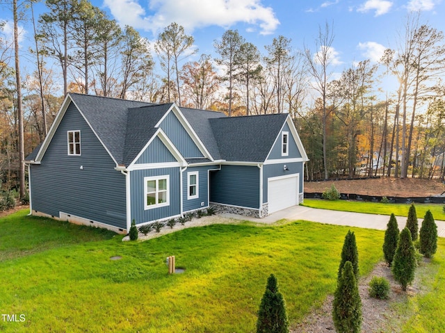
[[[69,93],[26,158],[31,214],[121,233],[210,205],[261,218],[302,202],[306,161],[289,114]]]

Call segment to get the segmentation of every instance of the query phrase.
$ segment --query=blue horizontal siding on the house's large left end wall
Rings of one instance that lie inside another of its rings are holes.
[[[81,131],[81,155],[68,156],[67,131]],[[127,229],[125,177],[73,104],[67,108],[41,164],[31,164],[35,211],[67,213]]]

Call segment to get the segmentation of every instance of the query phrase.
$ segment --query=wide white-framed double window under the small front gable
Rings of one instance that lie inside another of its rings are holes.
[[[170,176],[144,178],[145,209],[159,208],[170,204]]]

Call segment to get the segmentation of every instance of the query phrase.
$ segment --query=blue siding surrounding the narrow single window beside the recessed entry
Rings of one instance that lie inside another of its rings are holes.
[[[184,171],[182,177],[182,195],[183,195],[183,211],[193,211],[209,206],[209,170],[218,170],[219,165],[203,165],[199,167],[189,167]],[[195,199],[187,199],[188,194],[188,172],[198,172],[198,197]],[[202,204],[204,203],[204,204]]]

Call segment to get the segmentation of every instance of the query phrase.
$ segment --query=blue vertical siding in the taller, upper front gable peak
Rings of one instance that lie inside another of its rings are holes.
[[[173,145],[177,147],[184,159],[194,159],[204,157],[200,149],[188,135],[186,129],[177,119],[175,113],[170,112],[160,125],[161,129],[167,134]]]

